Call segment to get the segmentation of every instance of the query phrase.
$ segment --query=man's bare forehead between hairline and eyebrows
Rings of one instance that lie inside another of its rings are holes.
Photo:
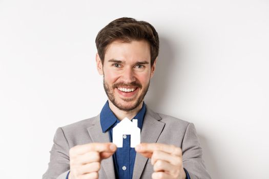
[[[113,41],[109,44],[105,54],[105,61],[110,59],[126,62],[150,61],[150,44],[146,40]]]

